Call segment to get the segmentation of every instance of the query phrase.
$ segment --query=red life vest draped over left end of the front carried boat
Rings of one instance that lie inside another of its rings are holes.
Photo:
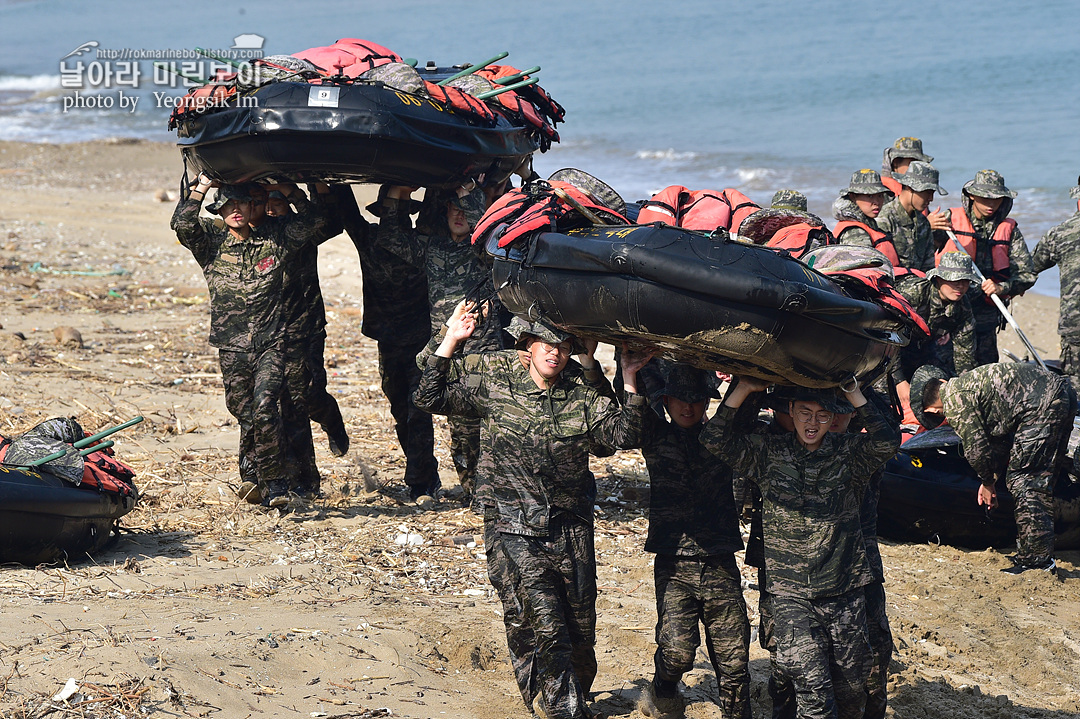
[[[538,189],[539,188],[539,189]],[[578,212],[569,203],[556,195],[552,188],[566,192],[583,207],[595,215],[630,225],[630,220],[613,209],[598,204],[591,196],[568,182],[549,182],[548,187],[525,186],[507,192],[496,200],[473,230],[473,244],[482,242],[489,230],[501,223],[508,225],[499,238],[499,246],[505,247],[514,240],[531,232],[557,230],[559,221]]]

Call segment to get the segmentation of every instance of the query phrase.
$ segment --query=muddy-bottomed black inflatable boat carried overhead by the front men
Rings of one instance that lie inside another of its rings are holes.
[[[783,252],[665,226],[486,239],[499,299],[605,342],[769,381],[835,386],[907,342],[885,308],[845,293]]]

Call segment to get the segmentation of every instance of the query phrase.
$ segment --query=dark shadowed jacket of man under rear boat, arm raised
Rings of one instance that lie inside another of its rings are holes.
[[[428,276],[422,269],[406,262],[376,241],[377,228],[360,214],[356,198],[350,188],[345,187],[337,192],[335,202],[339,219],[360,255],[364,281],[364,325],[361,331],[376,341],[397,347],[422,344],[431,336]],[[408,215],[396,220],[382,218],[378,228],[395,221],[407,223]]]

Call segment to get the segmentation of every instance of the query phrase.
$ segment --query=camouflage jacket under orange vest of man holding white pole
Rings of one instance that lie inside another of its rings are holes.
[[[978,268],[984,277],[993,277],[996,273],[994,272],[994,259],[990,257],[990,238],[994,236],[994,230],[1001,220],[1009,217],[1012,200],[1005,198],[1001,207],[991,217],[976,219],[971,211],[971,198],[963,195],[963,209],[968,214],[976,235],[975,267]],[[953,212],[956,212],[956,208],[953,208]],[[936,230],[934,231],[934,241],[944,245],[948,241],[948,235],[942,230]],[[1031,253],[1028,250],[1027,243],[1024,242],[1024,234],[1017,226],[1009,241],[1008,277],[1001,279],[999,282],[1005,295],[1015,297],[1030,289],[1037,279],[1038,276],[1031,267]],[[975,315],[976,329],[985,331],[1001,322],[1001,313],[994,302],[983,294],[977,282],[971,283],[968,299],[971,300],[971,311]]]

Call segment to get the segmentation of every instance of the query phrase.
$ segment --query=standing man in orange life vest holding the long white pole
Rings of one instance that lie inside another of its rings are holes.
[[[960,221],[956,215],[967,216],[974,231],[975,266],[986,280],[972,283],[968,290],[971,309],[975,314],[975,362],[980,365],[998,361],[997,333],[1004,326],[1001,313],[988,295],[998,295],[1009,304],[1010,297],[1018,297],[1035,284],[1036,273],[1031,267],[1031,254],[1024,242],[1018,227],[1014,227],[1008,239],[1009,268],[995,270],[990,252],[990,239],[1012,212],[1016,193],[1005,187],[1004,178],[993,169],[981,169],[975,178],[968,180],[962,191],[962,207],[949,209],[950,221],[956,228]],[[959,238],[963,241],[963,238]],[[945,231],[935,231],[934,241],[946,250],[958,249]],[[948,243],[948,244],[946,244]]]

